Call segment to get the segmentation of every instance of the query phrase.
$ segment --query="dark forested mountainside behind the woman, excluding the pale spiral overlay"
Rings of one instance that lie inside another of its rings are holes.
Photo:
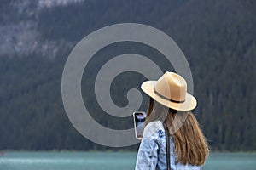
[[[36,24],[37,41],[55,42],[58,50],[55,56],[37,51],[1,54],[0,150],[119,150],[85,139],[69,122],[61,99],[61,75],[68,54],[83,37],[103,26],[125,22],[154,26],[183,50],[198,99],[194,113],[212,150],[256,150],[253,0],[86,0],[25,13],[35,8],[32,3],[19,16],[12,9],[12,1],[1,3],[1,26],[30,20]],[[128,53],[142,54],[163,71],[173,71],[160,52],[137,42],[102,48],[84,71],[82,94],[84,105],[89,105],[92,116],[105,127],[133,126],[131,116],[118,118],[102,111],[90,90],[106,61]],[[124,83],[125,80],[129,81]],[[132,71],[116,77],[111,88],[115,104],[127,105],[127,91],[139,89],[145,80]],[[147,102],[143,95],[141,110],[146,110]],[[136,150],[137,146],[123,149]]]

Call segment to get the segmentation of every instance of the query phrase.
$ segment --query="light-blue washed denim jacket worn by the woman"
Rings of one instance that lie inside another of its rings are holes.
[[[174,143],[170,136],[170,161],[172,170],[201,170],[201,166],[175,164]],[[149,122],[144,128],[143,139],[140,144],[136,170],[167,169],[166,165],[166,134],[162,122]]]

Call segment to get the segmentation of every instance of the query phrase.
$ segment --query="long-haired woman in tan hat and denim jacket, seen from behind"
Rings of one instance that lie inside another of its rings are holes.
[[[201,169],[209,149],[191,112],[196,99],[187,93],[186,81],[174,72],[166,72],[158,81],[143,82],[142,89],[150,100],[136,169],[167,169],[168,164],[176,170]]]

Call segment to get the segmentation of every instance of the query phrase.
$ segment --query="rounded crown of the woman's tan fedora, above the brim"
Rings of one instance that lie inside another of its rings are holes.
[[[174,72],[166,72],[155,83],[154,90],[166,99],[183,102],[187,94],[187,82]]]

